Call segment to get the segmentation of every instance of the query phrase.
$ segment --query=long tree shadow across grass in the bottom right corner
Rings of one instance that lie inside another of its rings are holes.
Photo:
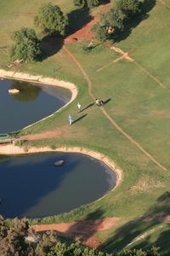
[[[99,249],[102,251],[107,250],[107,252],[112,252],[113,250],[121,251],[123,247],[127,247],[130,243],[140,235],[144,235],[145,232],[148,232],[156,227],[156,225],[161,224],[163,220],[166,220],[167,216],[170,214],[170,198],[166,195],[161,195],[156,203],[144,213],[143,216],[134,219],[133,221],[124,224],[121,228],[116,230],[113,236],[110,239],[105,241]],[[170,231],[168,231],[170,234]],[[164,234],[165,235],[165,234]],[[162,237],[159,236],[157,241],[148,241],[146,239],[141,239],[141,242],[138,244],[139,248],[147,247],[149,249],[152,246],[161,247],[163,249],[163,243],[161,243]],[[133,243],[132,243],[133,244]],[[135,243],[134,243],[135,244]],[[132,245],[131,245],[132,247]],[[136,247],[135,247],[136,248]]]

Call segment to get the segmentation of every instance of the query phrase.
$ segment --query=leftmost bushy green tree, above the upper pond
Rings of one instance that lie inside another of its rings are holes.
[[[14,60],[37,61],[42,55],[40,40],[31,28],[22,27],[15,31],[12,38],[15,44],[10,49],[10,57]]]

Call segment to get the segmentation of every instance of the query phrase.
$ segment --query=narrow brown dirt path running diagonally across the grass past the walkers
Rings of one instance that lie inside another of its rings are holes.
[[[75,58],[74,55],[71,54],[71,52],[66,49],[66,47],[64,46],[64,49],[66,51],[66,53],[71,57],[71,60],[74,61],[77,66],[80,68],[81,72],[82,72],[82,76],[84,77],[84,79],[87,81],[88,83],[88,93],[89,95],[95,99],[94,94],[92,93],[92,82],[90,81],[90,79],[88,78],[88,74],[84,71],[84,69],[82,68],[82,65],[79,63],[79,61],[77,61],[77,59]],[[157,160],[155,160],[151,154],[149,154],[144,148],[142,148],[142,146],[137,143],[133,137],[130,137],[125,131],[122,130],[122,128],[116,124],[116,121],[114,119],[111,118],[111,116],[105,111],[105,108],[100,108],[100,110],[102,111],[102,113],[105,114],[105,117],[107,119],[109,119],[111,121],[111,124],[116,128],[116,130],[120,131],[122,133],[123,136],[127,137],[128,141],[130,143],[133,143],[137,148],[139,148],[140,151],[142,151],[152,162],[154,162],[156,164],[156,166],[160,167],[161,170],[163,171],[167,171],[167,168],[162,166]]]

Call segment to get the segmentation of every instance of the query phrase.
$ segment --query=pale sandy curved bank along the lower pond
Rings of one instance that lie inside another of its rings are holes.
[[[105,156],[105,154],[101,154],[97,151],[94,151],[94,150],[91,150],[91,149],[88,149],[88,148],[59,147],[59,148],[56,148],[56,149],[52,149],[52,148],[49,148],[49,147],[43,147],[43,148],[18,147],[18,146],[15,146],[14,144],[5,145],[3,147],[0,147],[0,154],[3,154],[3,155],[39,154],[39,153],[50,153],[50,152],[51,153],[61,152],[61,153],[86,154],[90,157],[93,157],[96,160],[100,160],[101,162],[104,162],[105,165],[109,166],[111,168],[111,170],[116,173],[116,177],[117,177],[116,178],[116,186],[113,189],[111,189],[111,191],[116,189],[116,187],[122,182],[123,172],[120,168],[118,168],[116,166],[116,163],[113,160],[111,160],[111,158]],[[104,196],[102,196],[101,198],[103,198]]]

